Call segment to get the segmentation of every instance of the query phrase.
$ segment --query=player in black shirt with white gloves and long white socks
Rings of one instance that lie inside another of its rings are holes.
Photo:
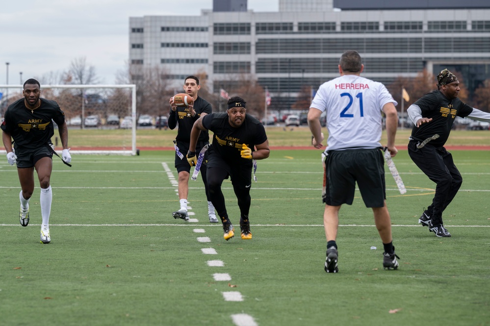
[[[43,220],[41,243],[50,243],[53,121],[58,125],[59,137],[63,146],[61,157],[66,163],[70,163],[72,159],[68,148],[68,128],[65,123],[65,114],[59,108],[58,103],[40,98],[41,85],[37,80],[27,79],[22,94],[24,98],[12,103],[5,112],[5,120],[0,126],[2,141],[7,151],[8,163],[17,164],[17,173],[21,182],[20,223],[22,226],[27,226],[29,223],[29,200],[34,192],[35,169],[41,186],[39,200]],[[12,139],[15,152],[12,150]]]

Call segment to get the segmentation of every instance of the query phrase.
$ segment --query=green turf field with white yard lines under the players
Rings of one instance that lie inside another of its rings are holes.
[[[247,241],[225,241],[208,223],[201,179],[189,192],[198,222],[174,220],[174,153],[141,151],[73,155],[72,168],[55,158],[52,243],[42,245],[39,183],[22,227],[16,169],[3,158],[0,325],[488,326],[490,156],[452,152],[464,178],[443,215],[452,237],[417,225],[435,185],[400,151],[394,161],[407,194],[386,175],[399,269],[383,270],[372,212],[357,192],[340,210],[333,275],[323,270],[319,150],[273,150],[258,162]],[[223,186],[238,228],[230,181]],[[226,301],[230,292],[243,301]]]

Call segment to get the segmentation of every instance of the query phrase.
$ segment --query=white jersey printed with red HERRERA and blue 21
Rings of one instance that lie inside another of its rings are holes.
[[[393,100],[385,85],[358,75],[323,83],[310,107],[327,112],[327,150],[381,147],[382,116]]]

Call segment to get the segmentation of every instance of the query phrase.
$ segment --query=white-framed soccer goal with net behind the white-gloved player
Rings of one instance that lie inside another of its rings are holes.
[[[0,116],[23,98],[22,85],[0,85]],[[71,153],[136,155],[136,85],[41,85],[41,97],[65,112]],[[61,148],[57,127],[52,142]]]

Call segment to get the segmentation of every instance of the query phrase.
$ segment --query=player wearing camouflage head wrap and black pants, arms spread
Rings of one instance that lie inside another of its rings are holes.
[[[437,90],[424,95],[407,109],[414,124],[408,152],[420,170],[437,184],[434,199],[418,223],[428,226],[438,237],[450,237],[442,222],[442,212],[456,196],[463,178],[444,144],[456,116],[490,122],[490,113],[458,99],[460,82],[449,70],[442,70],[437,81]]]

